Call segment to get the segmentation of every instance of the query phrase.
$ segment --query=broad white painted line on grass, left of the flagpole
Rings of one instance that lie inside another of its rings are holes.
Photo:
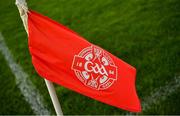
[[[44,103],[42,102],[43,97],[39,94],[37,88],[35,88],[32,82],[28,79],[29,75],[25,73],[22,67],[14,61],[14,58],[5,43],[4,37],[2,36],[1,32],[0,52],[4,55],[7,64],[16,77],[17,86],[19,87],[21,93],[24,95],[25,100],[31,105],[34,113],[37,115],[50,115],[50,111],[47,110]]]

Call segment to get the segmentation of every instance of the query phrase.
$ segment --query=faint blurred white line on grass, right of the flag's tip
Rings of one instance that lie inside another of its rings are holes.
[[[147,111],[152,105],[159,104],[166,100],[171,94],[175,93],[178,88],[180,88],[180,76],[175,76],[172,81],[165,86],[155,89],[148,97],[142,100],[142,111]]]

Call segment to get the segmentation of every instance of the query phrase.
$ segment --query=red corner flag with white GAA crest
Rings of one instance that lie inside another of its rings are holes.
[[[140,112],[136,69],[65,26],[28,13],[32,63],[43,78],[103,103]]]

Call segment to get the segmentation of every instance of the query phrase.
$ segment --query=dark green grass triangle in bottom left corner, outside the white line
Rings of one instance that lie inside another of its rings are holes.
[[[33,114],[1,53],[0,61],[0,114]],[[4,70],[6,73],[4,73]]]

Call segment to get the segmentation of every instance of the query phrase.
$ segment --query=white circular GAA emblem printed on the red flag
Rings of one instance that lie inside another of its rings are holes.
[[[77,78],[86,86],[105,90],[117,80],[117,67],[101,48],[90,46],[74,56],[72,63]]]

